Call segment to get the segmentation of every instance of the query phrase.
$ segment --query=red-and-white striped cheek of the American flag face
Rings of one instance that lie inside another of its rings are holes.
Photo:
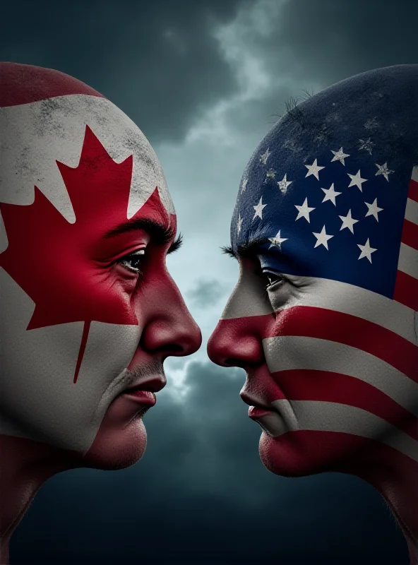
[[[289,449],[315,466],[317,461],[328,465],[366,441],[395,437],[396,446],[398,440],[418,440],[416,383],[388,362],[405,359],[395,345],[381,354],[387,359],[376,355],[381,330],[369,325],[368,333],[360,327],[356,335],[350,331],[353,317],[340,314],[338,325],[334,312],[306,307],[277,315],[263,348],[271,381],[280,391],[274,405],[280,412],[288,401],[297,425],[274,439],[263,434],[261,451],[268,465],[274,454],[281,461]],[[316,438],[325,442],[325,451],[317,449]]]

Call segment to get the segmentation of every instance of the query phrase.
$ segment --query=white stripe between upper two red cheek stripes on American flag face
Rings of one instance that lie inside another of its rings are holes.
[[[352,376],[374,386],[418,416],[418,383],[366,351],[344,343],[299,335],[267,338],[263,340],[263,349],[272,373],[289,369],[315,369]],[[277,381],[280,381],[280,375]]]

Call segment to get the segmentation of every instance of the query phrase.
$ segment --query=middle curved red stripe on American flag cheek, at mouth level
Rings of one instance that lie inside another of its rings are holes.
[[[316,369],[287,369],[272,376],[287,400],[319,400],[362,408],[418,440],[417,417],[361,379]]]

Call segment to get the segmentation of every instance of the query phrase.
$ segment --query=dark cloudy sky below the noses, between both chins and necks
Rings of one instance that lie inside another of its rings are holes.
[[[145,415],[143,459],[49,480],[13,536],[11,563],[406,565],[405,541],[371,487],[265,470],[243,383],[241,369],[191,362],[184,399],[166,389]]]

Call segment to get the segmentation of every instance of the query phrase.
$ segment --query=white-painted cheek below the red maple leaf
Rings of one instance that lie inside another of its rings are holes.
[[[93,321],[73,382],[83,321],[28,330],[35,304],[1,272],[1,431],[85,452],[131,361],[140,326]],[[4,416],[4,417],[3,417]]]

